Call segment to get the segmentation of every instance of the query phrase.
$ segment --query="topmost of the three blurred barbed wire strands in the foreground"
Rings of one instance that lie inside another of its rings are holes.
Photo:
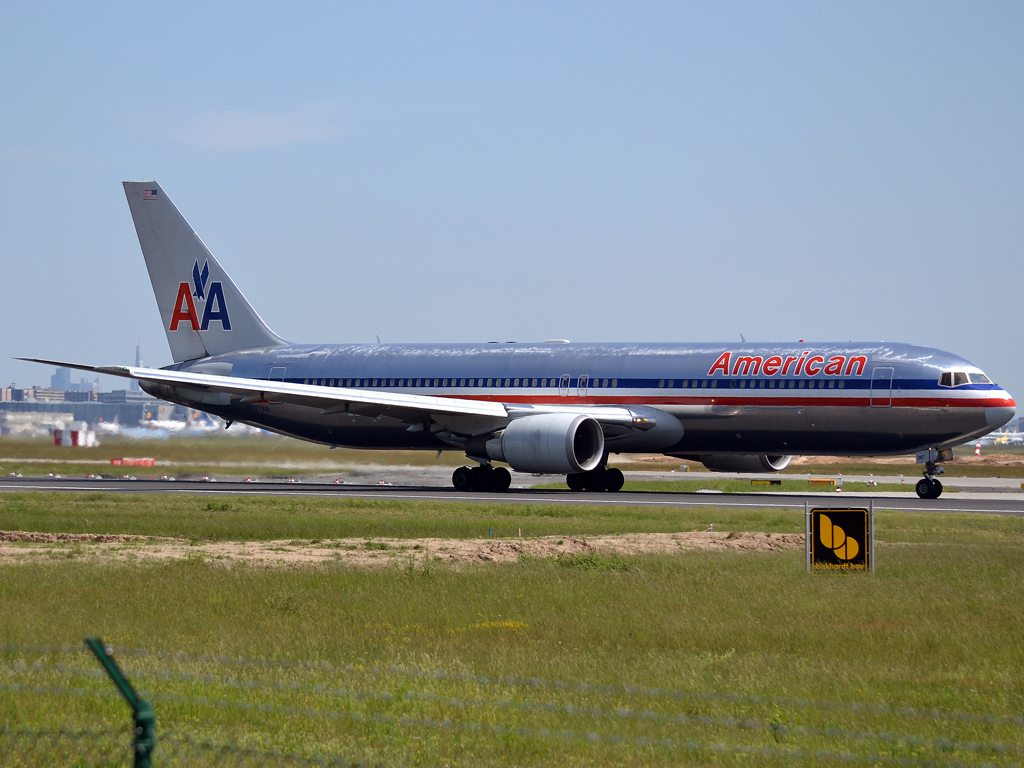
[[[79,653],[84,649],[70,645],[63,646],[31,646],[31,645],[0,645],[5,652],[25,653]],[[545,680],[543,678],[521,678],[513,676],[488,677],[469,673],[446,672],[444,670],[422,670],[398,667],[396,665],[356,665],[332,662],[296,662],[292,659],[244,658],[225,655],[193,654],[185,652],[150,651],[139,648],[115,648],[119,655],[136,657],[157,657],[177,662],[197,662],[205,664],[223,664],[241,667],[260,667],[275,669],[330,670],[337,672],[359,672],[369,674],[390,674],[406,677],[431,678],[451,682],[476,683],[478,685],[508,685],[517,687],[549,688],[570,693],[603,693],[611,695],[648,696],[650,698],[696,698],[705,700],[720,700],[730,703],[748,703],[755,706],[797,707],[802,709],[845,710],[858,714],[902,715],[904,717],[928,718],[934,720],[956,720],[962,722],[986,723],[989,725],[1024,726],[1024,717],[995,715],[991,713],[974,714],[966,712],[950,712],[938,709],[924,710],[913,707],[892,707],[889,705],[865,705],[855,701],[826,701],[792,696],[761,696],[757,694],[721,693],[719,691],[675,690],[670,688],[646,687],[615,684],[570,683],[560,680]]]

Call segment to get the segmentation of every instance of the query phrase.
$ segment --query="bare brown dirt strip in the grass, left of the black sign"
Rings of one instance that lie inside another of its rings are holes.
[[[78,545],[74,549],[68,545]],[[82,546],[85,545],[85,546]],[[167,537],[111,534],[0,531],[0,564],[76,559],[202,559],[225,565],[303,566],[343,563],[356,567],[446,562],[515,562],[523,557],[636,556],[696,551],[782,552],[804,546],[802,534],[684,531],[538,539],[331,539],[319,541],[196,542]]]

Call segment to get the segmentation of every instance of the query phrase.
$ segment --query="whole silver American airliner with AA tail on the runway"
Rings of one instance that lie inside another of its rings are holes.
[[[45,365],[136,379],[155,397],[331,446],[460,451],[460,490],[520,472],[618,490],[609,453],[777,472],[794,455],[915,453],[923,499],[952,447],[1016,402],[981,369],[910,344],[293,344],[263,322],[156,181],[124,182],[174,364]],[[440,454],[438,453],[438,456]]]

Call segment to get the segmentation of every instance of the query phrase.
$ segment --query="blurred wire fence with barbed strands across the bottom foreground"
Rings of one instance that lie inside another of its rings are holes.
[[[119,649],[132,681],[126,692],[119,671],[100,669],[84,648],[0,651],[0,701],[9,700],[15,721],[73,723],[4,726],[5,766],[398,765],[408,750],[389,744],[424,740],[479,764],[505,752],[524,762],[583,753],[609,764],[1002,766],[1024,758],[1024,718],[1006,714]],[[152,763],[139,762],[144,728],[136,718],[133,733],[125,714],[132,685],[158,713],[156,744],[143,756]],[[87,727],[86,717],[101,727]]]

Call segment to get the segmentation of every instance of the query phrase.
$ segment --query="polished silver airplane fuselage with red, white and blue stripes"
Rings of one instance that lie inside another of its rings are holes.
[[[612,453],[908,453],[974,439],[1015,413],[1010,394],[963,357],[890,343],[286,344],[169,370],[523,410],[617,406],[655,423],[660,417],[655,428],[608,434]],[[950,376],[944,385],[950,372],[964,373],[967,383],[951,386]],[[142,386],[227,420],[326,444],[461,450],[436,427],[418,429],[386,413],[324,413],[272,397]]]

